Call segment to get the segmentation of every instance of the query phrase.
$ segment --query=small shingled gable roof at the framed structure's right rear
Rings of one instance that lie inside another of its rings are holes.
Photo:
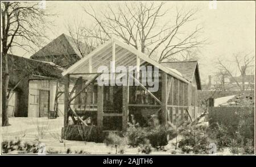
[[[160,62],[160,64],[170,69],[176,69],[189,82],[192,82],[193,77],[195,76],[197,82],[199,83],[197,84],[197,87],[201,89],[199,66],[197,61],[172,61],[172,62]]]

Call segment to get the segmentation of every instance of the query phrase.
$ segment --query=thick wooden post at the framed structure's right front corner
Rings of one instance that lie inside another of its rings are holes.
[[[167,112],[167,74],[162,72],[162,125],[166,125]]]

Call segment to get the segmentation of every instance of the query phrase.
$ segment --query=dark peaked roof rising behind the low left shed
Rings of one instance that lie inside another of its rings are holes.
[[[89,47],[85,43],[74,39],[71,36],[61,34],[52,40],[45,47],[40,49],[38,52],[31,56],[31,59],[43,56],[56,56],[56,55],[77,55],[80,59],[87,55],[92,47]]]

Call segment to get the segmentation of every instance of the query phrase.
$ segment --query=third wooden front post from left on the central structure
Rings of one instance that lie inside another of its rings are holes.
[[[127,128],[127,118],[128,118],[128,86],[123,86],[123,120],[122,120],[122,129],[123,132],[126,131]]]

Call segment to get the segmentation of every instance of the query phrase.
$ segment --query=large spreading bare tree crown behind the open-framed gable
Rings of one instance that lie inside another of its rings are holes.
[[[176,16],[166,21],[168,10],[164,10],[164,3],[155,5],[154,2],[129,2],[124,6],[108,6],[107,11],[97,14],[84,7],[84,11],[95,23],[95,28],[85,28],[87,36],[98,39],[101,43],[111,36],[118,36],[125,43],[141,50],[158,61],[188,60],[187,53],[198,49],[206,40],[200,40],[201,27],[185,33],[183,28],[195,20],[199,10],[176,9]],[[191,30],[192,28],[190,28]],[[158,55],[158,56],[156,56]],[[177,56],[179,55],[179,56]],[[184,56],[185,55],[185,56]]]

